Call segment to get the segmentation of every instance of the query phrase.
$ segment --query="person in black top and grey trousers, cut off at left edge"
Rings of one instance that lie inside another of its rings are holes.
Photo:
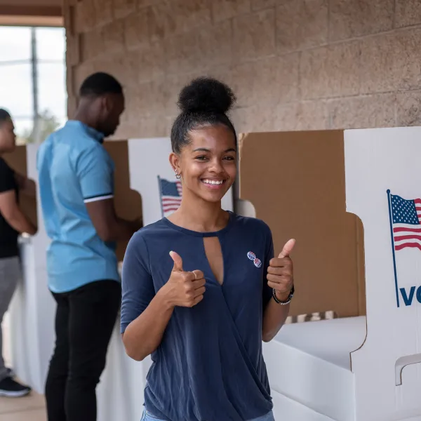
[[[15,173],[2,155],[15,149],[15,127],[10,114],[0,109],[0,323],[11,302],[21,276],[18,236],[35,234],[36,227],[22,213],[18,205],[18,191],[33,195],[35,184]],[[0,325],[0,396],[25,396],[31,389],[13,380],[13,372],[4,365],[1,355]]]

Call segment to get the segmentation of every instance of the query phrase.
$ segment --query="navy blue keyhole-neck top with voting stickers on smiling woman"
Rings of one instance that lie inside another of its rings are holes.
[[[218,236],[222,286],[206,258],[203,237]],[[230,213],[218,232],[194,232],[163,218],[140,229],[123,261],[121,333],[168,281],[176,251],[183,270],[200,269],[203,300],[175,307],[161,345],[152,354],[146,409],[170,421],[245,421],[272,410],[262,356],[263,309],[272,296],[266,274],[274,257],[272,233],[261,220]]]

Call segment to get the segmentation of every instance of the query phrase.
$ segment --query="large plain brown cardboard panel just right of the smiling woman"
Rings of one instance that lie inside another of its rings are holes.
[[[297,240],[290,314],[365,314],[363,227],[345,209],[343,131],[244,134],[240,160],[240,199],[272,229],[275,253]]]

